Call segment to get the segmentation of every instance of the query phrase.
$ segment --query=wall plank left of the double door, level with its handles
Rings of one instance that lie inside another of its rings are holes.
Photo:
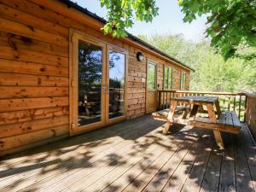
[[[0,99],[68,96],[68,87],[0,86]]]

